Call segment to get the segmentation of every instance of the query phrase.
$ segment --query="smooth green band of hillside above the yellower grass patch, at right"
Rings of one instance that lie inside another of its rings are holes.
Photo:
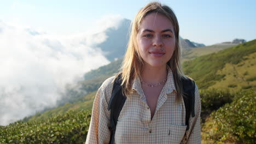
[[[225,77],[225,74],[218,73],[225,64],[238,64],[247,60],[246,56],[254,52],[256,52],[256,40],[184,62],[183,70],[196,81],[199,88],[205,89],[218,85],[217,83]]]

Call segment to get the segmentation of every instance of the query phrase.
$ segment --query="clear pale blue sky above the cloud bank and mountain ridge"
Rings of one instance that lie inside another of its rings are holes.
[[[133,20],[151,1],[2,1],[0,20],[57,34],[88,31],[109,15]],[[212,45],[256,38],[256,1],[160,1],[177,15],[181,37]]]

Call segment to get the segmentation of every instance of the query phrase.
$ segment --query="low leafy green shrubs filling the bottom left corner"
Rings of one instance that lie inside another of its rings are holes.
[[[0,143],[84,143],[89,111],[69,111],[42,121],[15,122],[0,127]]]

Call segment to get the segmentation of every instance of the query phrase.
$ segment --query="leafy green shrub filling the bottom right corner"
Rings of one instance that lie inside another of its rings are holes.
[[[220,107],[211,114],[214,128],[208,137],[219,142],[255,143],[256,93],[240,93],[231,104]]]

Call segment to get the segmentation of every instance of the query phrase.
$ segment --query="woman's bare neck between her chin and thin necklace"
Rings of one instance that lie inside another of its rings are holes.
[[[146,83],[159,83],[166,79],[167,69],[166,65],[162,67],[149,67],[144,65],[141,79]]]

